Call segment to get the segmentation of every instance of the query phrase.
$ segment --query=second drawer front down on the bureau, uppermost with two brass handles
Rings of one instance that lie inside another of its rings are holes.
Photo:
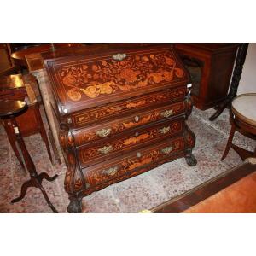
[[[125,118],[116,119],[112,122],[102,125],[95,125],[88,128],[74,131],[74,139],[76,146],[84,145],[85,143],[93,142],[102,138],[110,137],[119,132],[127,131],[131,128],[136,128],[140,125],[148,125],[155,121],[160,121],[172,118],[177,114],[185,113],[185,102],[177,102],[162,108],[156,108],[151,111],[137,113]]]

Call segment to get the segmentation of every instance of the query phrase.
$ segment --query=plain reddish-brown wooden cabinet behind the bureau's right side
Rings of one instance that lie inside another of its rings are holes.
[[[175,44],[189,70],[195,107],[217,106],[227,96],[238,44]]]

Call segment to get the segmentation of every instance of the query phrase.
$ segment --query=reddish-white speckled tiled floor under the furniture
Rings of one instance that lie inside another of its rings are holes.
[[[219,160],[230,132],[229,112],[225,110],[218,119],[210,122],[208,118],[213,112],[213,109],[203,112],[194,108],[188,120],[196,136],[197,166],[189,167],[184,159],[179,159],[113,184],[85,197],[83,212],[139,212],[152,208],[241,163],[233,149],[223,162]],[[25,142],[38,172],[48,172],[51,176],[59,174],[54,182],[44,181],[43,185],[56,209],[67,212],[69,201],[63,188],[66,166],[51,166],[39,135],[26,137]],[[251,150],[255,147],[254,141],[238,133],[234,142]],[[20,168],[0,125],[0,212],[51,212],[40,190],[35,188],[28,189],[22,201],[10,204],[20,195],[20,186],[27,179],[28,175]]]

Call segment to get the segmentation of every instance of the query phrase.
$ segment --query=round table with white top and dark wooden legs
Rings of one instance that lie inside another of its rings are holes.
[[[256,93],[236,96],[231,103],[231,112],[230,137],[221,160],[225,159],[230,148],[233,148],[236,153],[239,154],[241,160],[245,160],[248,157],[256,157],[256,148],[254,152],[251,152],[232,143],[235,131],[239,131],[247,137],[256,139]]]

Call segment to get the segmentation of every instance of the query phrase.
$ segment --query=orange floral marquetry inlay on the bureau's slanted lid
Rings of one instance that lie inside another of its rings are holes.
[[[83,96],[96,98],[114,92],[136,90],[150,84],[183,78],[169,50],[157,54],[127,55],[123,61],[94,61],[61,67],[59,74],[67,87],[67,96],[79,102]]]

